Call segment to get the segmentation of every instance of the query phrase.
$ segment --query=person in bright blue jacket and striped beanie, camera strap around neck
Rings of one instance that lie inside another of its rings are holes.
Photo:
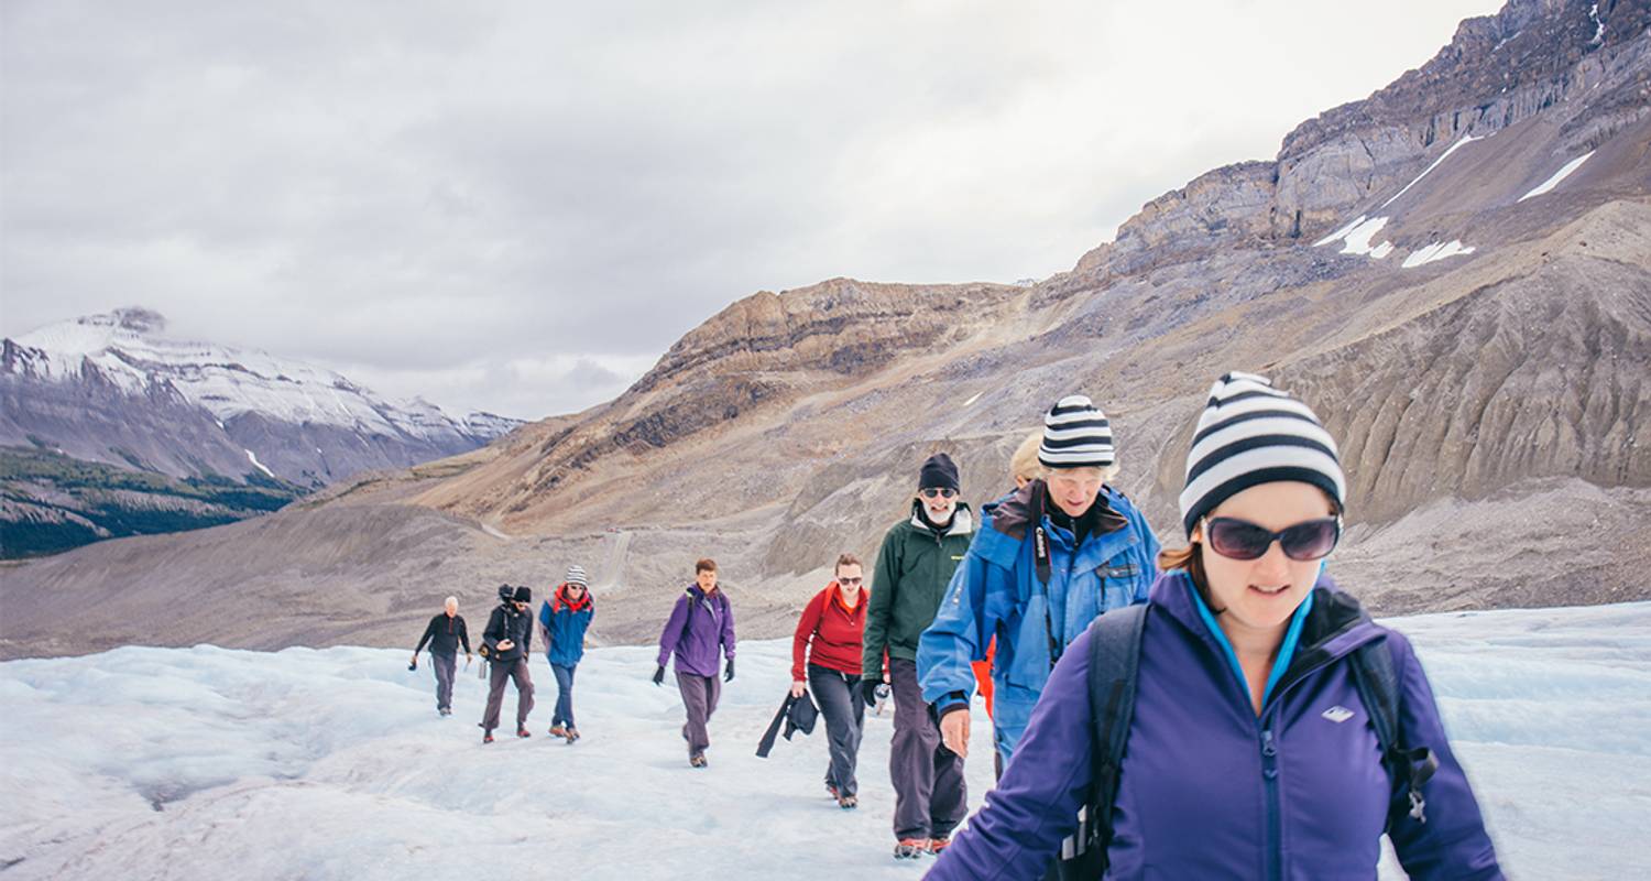
[[[1043,417],[1043,478],[986,506],[934,623],[918,641],[923,699],[941,739],[969,749],[969,661],[992,661],[992,721],[1004,765],[1014,755],[1048,671],[1090,621],[1146,602],[1159,544],[1146,517],[1108,481],[1118,474],[1113,430],[1090,398],[1070,395]]]

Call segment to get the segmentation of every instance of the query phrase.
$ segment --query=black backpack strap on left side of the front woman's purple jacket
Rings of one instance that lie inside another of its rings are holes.
[[[1062,860],[1080,863],[1083,878],[1106,873],[1106,848],[1113,840],[1113,802],[1118,800],[1118,777],[1129,722],[1134,721],[1136,681],[1141,671],[1141,633],[1146,630],[1147,605],[1114,608],[1095,620],[1090,641],[1090,712],[1095,717],[1091,737],[1090,798],[1078,817],[1073,853]]]

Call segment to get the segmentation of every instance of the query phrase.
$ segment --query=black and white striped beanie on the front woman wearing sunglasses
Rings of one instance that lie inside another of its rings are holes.
[[[1347,478],[1336,440],[1313,410],[1266,377],[1232,372],[1215,380],[1187,451],[1180,522],[1192,536],[1199,519],[1233,494],[1263,483],[1317,486],[1342,507]]]

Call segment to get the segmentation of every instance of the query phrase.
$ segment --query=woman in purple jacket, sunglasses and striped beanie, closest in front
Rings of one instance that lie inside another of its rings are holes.
[[[1346,479],[1304,403],[1263,377],[1210,390],[1180,494],[1190,547],[1161,555],[1105,878],[1375,878],[1384,830],[1410,878],[1502,878],[1410,643],[1321,575]],[[1090,628],[1062,656],[1014,760],[931,878],[1038,878],[1093,782]],[[1408,812],[1354,681],[1380,643],[1398,742],[1438,769]],[[1388,823],[1392,823],[1388,826]]]

